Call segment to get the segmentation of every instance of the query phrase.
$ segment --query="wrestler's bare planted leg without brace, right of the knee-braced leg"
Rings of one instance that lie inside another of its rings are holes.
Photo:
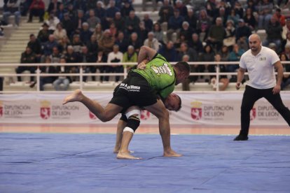
[[[165,108],[163,102],[158,100],[151,106],[144,107],[153,115],[156,115],[159,120],[159,133],[163,142],[163,156],[164,157],[181,157],[182,155],[174,152],[170,146],[170,122],[169,122],[169,112]]]

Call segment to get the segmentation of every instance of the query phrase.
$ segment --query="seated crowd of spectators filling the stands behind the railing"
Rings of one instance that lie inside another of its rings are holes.
[[[83,72],[122,73],[124,62],[137,62],[142,45],[157,50],[170,62],[237,62],[249,49],[247,38],[258,29],[265,29],[263,45],[274,49],[282,61],[289,61],[290,18],[285,18],[279,8],[288,1],[248,0],[242,5],[239,1],[208,0],[199,6],[193,6],[194,1],[185,2],[188,4],[181,0],[159,1],[159,19],[153,22],[147,13],[138,17],[131,0],[51,0],[47,10],[42,0],[34,0],[27,6],[28,22],[39,17],[41,29],[39,34],[30,34],[21,63],[48,63],[40,68],[42,73],[78,73],[78,66],[53,64],[116,62],[117,66],[85,66]],[[238,65],[219,65],[221,72],[237,69]],[[16,72],[27,70],[34,73],[36,69],[19,66]],[[193,65],[191,71],[215,72],[216,66]],[[220,90],[235,82],[235,76],[219,78],[223,84]],[[53,83],[55,90],[66,90],[75,80],[75,76],[43,76],[40,88]],[[87,80],[84,76],[83,81]],[[108,80],[108,76],[100,77],[100,81]],[[119,80],[116,76],[115,81]],[[207,81],[216,89],[214,76],[191,76],[183,89],[189,90],[188,84],[196,81]],[[290,83],[289,77],[285,76],[283,83],[284,88]]]

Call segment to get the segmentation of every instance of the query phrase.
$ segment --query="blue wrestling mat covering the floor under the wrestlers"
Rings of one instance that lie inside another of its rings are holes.
[[[113,134],[0,133],[0,192],[290,192],[290,136],[137,134],[141,160],[113,154]]]

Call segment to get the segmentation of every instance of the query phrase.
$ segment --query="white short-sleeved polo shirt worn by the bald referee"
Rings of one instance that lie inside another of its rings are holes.
[[[273,64],[279,61],[274,50],[262,46],[258,55],[251,54],[251,49],[244,52],[240,59],[240,67],[247,69],[249,82],[247,85],[256,89],[275,87],[276,77]]]

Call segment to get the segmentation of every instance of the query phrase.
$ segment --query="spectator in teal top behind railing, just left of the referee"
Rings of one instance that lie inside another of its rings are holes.
[[[242,54],[244,53],[244,50],[239,48],[239,45],[235,44],[233,45],[233,51],[230,52],[230,55],[228,56],[228,61],[230,62],[238,62],[240,61],[240,58]],[[226,66],[228,72],[235,72],[237,69],[239,69],[238,64],[231,64]],[[232,76],[230,79],[230,82],[237,82],[237,76]]]

